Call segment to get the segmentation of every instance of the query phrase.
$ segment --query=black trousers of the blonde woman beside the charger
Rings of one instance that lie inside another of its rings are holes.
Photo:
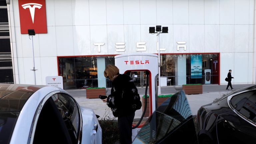
[[[119,142],[120,144],[132,143],[132,122],[135,113],[118,117]]]

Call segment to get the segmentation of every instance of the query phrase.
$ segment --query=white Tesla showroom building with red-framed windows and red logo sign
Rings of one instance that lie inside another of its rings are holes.
[[[227,84],[229,69],[232,84],[255,84],[254,0],[0,0],[0,82],[110,87],[105,66],[157,54],[159,25],[162,86]],[[130,76],[145,85],[145,72]]]

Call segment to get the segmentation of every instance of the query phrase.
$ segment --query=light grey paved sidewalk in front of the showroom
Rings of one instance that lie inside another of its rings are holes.
[[[237,84],[233,85],[235,90],[250,86],[253,84]],[[193,115],[197,114],[197,110],[205,104],[213,102],[216,98],[221,97],[224,94],[228,94],[231,90],[226,90],[227,85],[203,85],[203,94],[196,95],[186,95],[189,101],[189,105]],[[137,87],[138,93],[142,97],[145,95],[145,87]],[[78,89],[78,90],[66,90],[70,93],[78,102],[80,106],[89,107],[94,110],[95,114],[99,115],[101,118],[104,117],[105,114],[108,114],[110,117],[114,117],[112,115],[111,110],[108,108],[106,103],[103,103],[101,99],[87,99],[86,98],[86,89]],[[161,87],[161,94],[174,94],[176,90],[173,86]],[[110,94],[110,88],[107,89],[107,95]],[[142,109],[137,110],[135,112],[135,118],[140,118],[142,115]]]

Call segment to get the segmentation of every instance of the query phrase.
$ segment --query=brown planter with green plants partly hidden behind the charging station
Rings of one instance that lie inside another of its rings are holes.
[[[160,106],[165,100],[167,100],[171,96],[172,96],[172,94],[159,95],[157,98],[157,106]],[[142,113],[144,111],[144,104],[145,104],[145,95],[143,95],[143,97],[142,97]],[[148,117],[148,116],[149,116],[149,95],[147,95],[147,109],[146,109],[144,117]]]

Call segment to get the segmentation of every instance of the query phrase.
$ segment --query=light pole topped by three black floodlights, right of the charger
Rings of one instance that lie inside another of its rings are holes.
[[[158,50],[158,94],[161,94],[161,84],[160,84],[160,67],[161,67],[161,63],[160,63],[160,33],[168,33],[168,27],[163,27],[161,29],[162,26],[157,25],[156,29],[155,27],[149,27],[149,33],[151,34],[155,34],[157,33],[157,50]],[[155,32],[156,31],[156,32]],[[162,31],[162,32],[161,32]]]

